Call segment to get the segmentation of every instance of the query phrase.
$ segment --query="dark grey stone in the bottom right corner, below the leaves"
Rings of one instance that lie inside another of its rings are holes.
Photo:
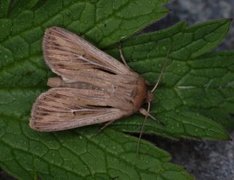
[[[234,138],[234,133],[232,134]],[[153,139],[146,137],[146,139]],[[187,169],[197,180],[234,180],[234,141],[152,141],[171,153],[172,161]]]

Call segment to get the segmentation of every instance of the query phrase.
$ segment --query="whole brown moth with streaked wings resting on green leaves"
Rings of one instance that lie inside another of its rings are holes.
[[[81,37],[59,27],[48,28],[43,52],[58,77],[48,79],[51,89],[34,103],[32,129],[48,132],[109,124],[135,112],[150,116],[149,106],[141,108],[152,99],[153,90],[147,90],[145,80]]]

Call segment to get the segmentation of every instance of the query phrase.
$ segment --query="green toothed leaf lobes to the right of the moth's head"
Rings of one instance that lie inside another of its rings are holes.
[[[234,52],[204,54],[222,41],[229,26],[230,20],[190,28],[179,23],[123,43],[129,65],[151,85],[165,66],[151,108],[164,125],[148,120],[144,132],[171,138],[229,139],[220,123],[234,127],[229,117],[234,109]],[[118,56],[115,49],[108,52]],[[114,126],[139,132],[143,119],[129,117]]]

